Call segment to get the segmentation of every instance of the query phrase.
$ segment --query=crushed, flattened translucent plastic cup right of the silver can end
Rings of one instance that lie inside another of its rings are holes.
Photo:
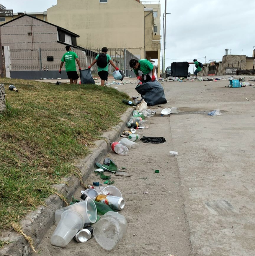
[[[117,212],[105,213],[94,226],[94,238],[104,249],[110,251],[127,233],[127,220]]]

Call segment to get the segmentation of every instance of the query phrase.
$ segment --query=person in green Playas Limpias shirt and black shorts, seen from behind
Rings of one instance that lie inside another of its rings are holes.
[[[64,62],[66,62],[66,74],[70,79],[70,84],[76,84],[79,78],[77,71],[76,71],[76,64],[78,64],[79,70],[81,70],[81,64],[78,59],[78,56],[75,52],[72,51],[71,46],[66,46],[66,53],[63,55],[60,63],[59,74],[61,74],[61,68],[63,67]]]

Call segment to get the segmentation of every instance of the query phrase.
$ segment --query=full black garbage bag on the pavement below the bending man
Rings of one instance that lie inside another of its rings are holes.
[[[141,94],[142,99],[144,99],[148,106],[153,106],[157,104],[165,104],[166,97],[164,93],[164,88],[158,81],[150,81],[147,83],[138,84],[135,90]]]

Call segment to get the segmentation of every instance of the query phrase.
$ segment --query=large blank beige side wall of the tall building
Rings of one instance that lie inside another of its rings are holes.
[[[48,22],[78,34],[84,48],[126,48],[144,58],[144,6],[135,0],[69,0],[47,9]],[[132,47],[130,47],[132,46]]]

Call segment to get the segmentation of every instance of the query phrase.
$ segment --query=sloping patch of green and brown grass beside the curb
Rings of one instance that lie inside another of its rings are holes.
[[[95,85],[55,85],[1,78],[0,229],[11,228],[53,194],[52,184],[76,171],[102,132],[120,121],[125,93]],[[9,91],[13,84],[19,92]],[[4,242],[0,241],[0,247]]]

